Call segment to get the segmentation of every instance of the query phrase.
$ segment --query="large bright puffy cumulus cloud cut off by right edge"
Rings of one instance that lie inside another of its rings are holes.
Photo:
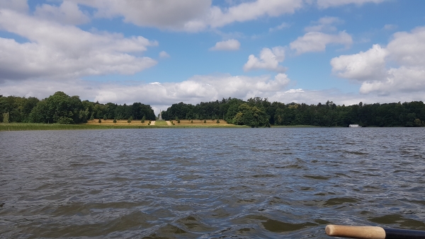
[[[367,52],[331,59],[341,78],[361,81],[360,93],[397,95],[425,91],[425,28],[395,33],[387,47],[373,45]],[[392,65],[393,67],[387,67]],[[421,99],[422,100],[422,99]]]

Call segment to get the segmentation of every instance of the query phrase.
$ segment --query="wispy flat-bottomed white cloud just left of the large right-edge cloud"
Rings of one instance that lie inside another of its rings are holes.
[[[297,40],[290,42],[290,49],[295,49],[297,54],[305,52],[323,52],[329,44],[345,45],[349,47],[353,43],[351,35],[346,32],[339,32],[337,35],[311,32],[305,33]]]

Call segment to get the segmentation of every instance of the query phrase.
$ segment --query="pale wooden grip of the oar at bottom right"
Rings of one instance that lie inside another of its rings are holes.
[[[379,226],[339,226],[328,225],[327,235],[342,238],[385,239],[385,230]]]

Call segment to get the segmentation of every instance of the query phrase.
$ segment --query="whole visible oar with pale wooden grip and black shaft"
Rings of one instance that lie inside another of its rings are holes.
[[[325,229],[327,235],[341,238],[366,238],[366,239],[425,239],[425,231],[381,228],[379,226],[339,226],[328,225]]]

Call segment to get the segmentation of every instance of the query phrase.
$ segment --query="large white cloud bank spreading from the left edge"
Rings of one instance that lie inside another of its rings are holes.
[[[135,74],[157,64],[136,57],[157,42],[117,33],[89,33],[16,11],[0,11],[0,30],[28,39],[20,43],[0,37],[0,80],[101,74]]]

